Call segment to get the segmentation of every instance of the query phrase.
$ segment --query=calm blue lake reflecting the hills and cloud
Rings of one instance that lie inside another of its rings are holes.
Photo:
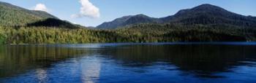
[[[256,43],[0,46],[0,82],[256,82]]]

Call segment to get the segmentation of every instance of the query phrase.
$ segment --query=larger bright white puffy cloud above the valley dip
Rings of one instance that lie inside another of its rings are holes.
[[[77,17],[91,17],[91,18],[98,18],[99,17],[99,8],[95,7],[94,4],[91,4],[89,0],[80,0],[80,13],[71,15],[72,18]]]

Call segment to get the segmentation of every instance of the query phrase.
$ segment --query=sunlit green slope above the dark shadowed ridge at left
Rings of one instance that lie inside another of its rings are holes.
[[[33,11],[0,1],[0,25],[18,26],[46,18],[56,18],[47,12]],[[57,19],[57,18],[56,18]]]

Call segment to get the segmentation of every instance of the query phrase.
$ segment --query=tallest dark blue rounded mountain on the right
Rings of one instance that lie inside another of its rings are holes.
[[[238,15],[226,9],[211,4],[202,4],[192,9],[182,9],[169,17],[159,18],[165,23],[181,23],[184,25],[237,25],[241,27],[255,27],[255,17]]]

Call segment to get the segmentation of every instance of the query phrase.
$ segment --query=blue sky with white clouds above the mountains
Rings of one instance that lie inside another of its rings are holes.
[[[86,26],[97,26],[126,15],[174,15],[180,9],[213,4],[241,15],[256,16],[256,0],[0,0],[31,10],[42,10]]]

